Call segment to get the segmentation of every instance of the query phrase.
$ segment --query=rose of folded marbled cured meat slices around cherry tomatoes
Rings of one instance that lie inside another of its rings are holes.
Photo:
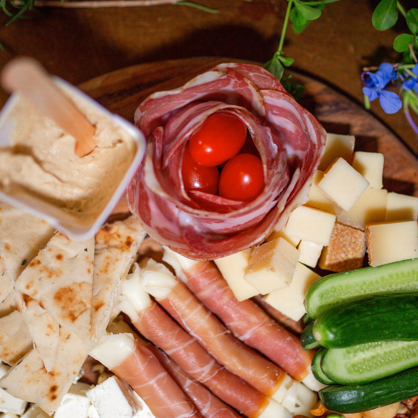
[[[260,155],[265,186],[250,202],[184,188],[186,144],[216,112],[239,117]],[[148,148],[127,190],[130,210],[156,241],[196,260],[252,247],[284,225],[306,202],[325,143],[319,122],[273,75],[250,64],[220,64],[183,87],[151,94],[135,124]]]

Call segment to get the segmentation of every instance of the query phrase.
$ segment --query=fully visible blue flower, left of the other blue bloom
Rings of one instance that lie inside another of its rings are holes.
[[[402,107],[402,101],[398,94],[385,90],[390,80],[396,80],[398,77],[392,64],[383,62],[375,73],[367,71],[368,77],[364,81],[363,93],[370,102],[379,97],[380,106],[386,113],[396,113]]]

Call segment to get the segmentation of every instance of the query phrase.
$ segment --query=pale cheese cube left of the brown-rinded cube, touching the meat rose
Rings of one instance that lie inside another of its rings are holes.
[[[286,234],[303,241],[328,245],[335,215],[309,206],[299,206],[290,215],[286,224]]]

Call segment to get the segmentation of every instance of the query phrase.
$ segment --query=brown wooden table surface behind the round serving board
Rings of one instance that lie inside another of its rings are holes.
[[[285,0],[195,0],[217,8],[211,14],[184,5],[129,8],[43,8],[5,27],[0,15],[0,66],[13,56],[29,55],[72,84],[126,66],[165,59],[217,56],[264,62],[278,47]],[[363,66],[398,62],[395,36],[407,30],[400,16],[394,28],[379,32],[371,23],[377,0],[341,0],[326,5],[322,16],[301,34],[288,29],[284,52],[292,68],[317,78],[362,102]],[[401,2],[408,10],[416,0]],[[0,92],[0,104],[7,95]],[[378,101],[372,112],[413,153],[418,136],[402,111],[386,115]]]

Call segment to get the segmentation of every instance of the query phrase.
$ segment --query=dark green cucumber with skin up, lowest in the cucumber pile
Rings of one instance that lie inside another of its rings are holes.
[[[332,385],[319,391],[325,408],[342,414],[368,411],[418,395],[418,367],[364,385]]]

